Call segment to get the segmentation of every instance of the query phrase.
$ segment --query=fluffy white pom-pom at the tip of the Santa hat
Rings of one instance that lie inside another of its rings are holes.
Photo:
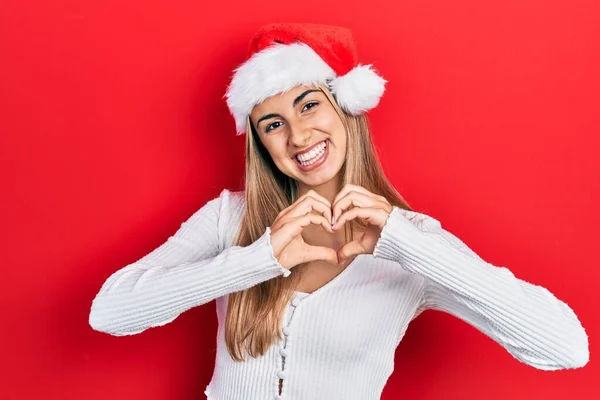
[[[346,75],[334,78],[329,87],[344,111],[358,115],[379,104],[386,83],[371,69],[371,64],[359,64]]]

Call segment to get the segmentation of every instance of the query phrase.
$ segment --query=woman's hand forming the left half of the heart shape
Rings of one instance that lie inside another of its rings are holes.
[[[325,230],[333,233],[331,215],[329,200],[314,190],[309,190],[282,210],[271,225],[273,255],[279,263],[287,269],[313,260],[325,260],[337,264],[337,253],[334,249],[311,246],[301,235],[304,228],[310,224],[322,225]]]

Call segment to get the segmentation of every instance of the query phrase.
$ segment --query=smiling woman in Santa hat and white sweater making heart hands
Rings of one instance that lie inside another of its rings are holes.
[[[386,179],[365,116],[385,83],[357,64],[347,29],[261,28],[227,90],[245,190],[223,190],[113,273],[90,325],[137,334],[216,299],[210,400],[379,399],[427,309],[532,367],[584,366],[588,338],[566,303],[483,260]]]

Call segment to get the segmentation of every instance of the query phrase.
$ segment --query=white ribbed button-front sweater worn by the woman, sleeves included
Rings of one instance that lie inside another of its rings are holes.
[[[251,245],[232,246],[243,212],[244,193],[224,189],[163,245],[113,273],[92,303],[92,328],[133,335],[216,299],[209,400],[379,399],[396,347],[427,309],[460,318],[541,370],[589,360],[587,334],[566,303],[484,261],[438,220],[394,207],[373,254],[311,294],[296,292],[284,339],[235,362],[224,340],[228,294],[291,273],[273,256],[270,227]]]

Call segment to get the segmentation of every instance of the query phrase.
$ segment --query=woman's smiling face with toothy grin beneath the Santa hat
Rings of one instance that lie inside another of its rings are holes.
[[[297,86],[256,105],[250,120],[277,168],[316,187],[338,177],[346,155],[346,130],[318,87]]]

